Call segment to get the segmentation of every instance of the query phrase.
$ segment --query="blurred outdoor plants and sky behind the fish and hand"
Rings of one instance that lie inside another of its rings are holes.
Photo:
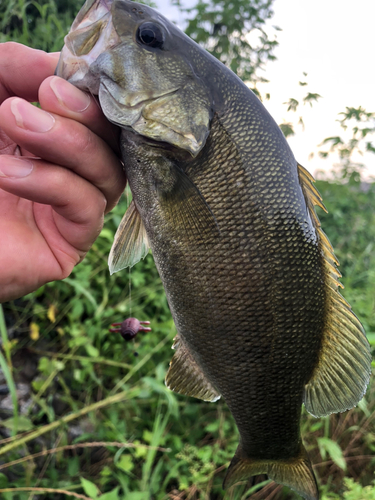
[[[80,0],[0,2],[0,42],[58,51]],[[235,71],[317,178],[343,295],[375,346],[375,174],[371,0],[159,0],[152,4]],[[238,443],[222,401],[164,385],[176,334],[152,255],[110,276],[131,199],[107,216],[72,273],[0,306],[0,497],[5,500],[288,500],[266,477],[223,492]],[[111,323],[151,333],[125,343]],[[375,500],[375,386],[302,434],[323,500]]]

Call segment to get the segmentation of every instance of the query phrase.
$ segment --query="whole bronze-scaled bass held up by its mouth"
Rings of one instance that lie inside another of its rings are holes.
[[[238,427],[224,488],[267,474],[318,500],[302,405],[315,417],[355,406],[371,355],[313,177],[258,97],[148,6],[88,0],[56,74],[121,128],[133,199],[110,272],[152,250],[177,329],[166,385],[222,397]]]

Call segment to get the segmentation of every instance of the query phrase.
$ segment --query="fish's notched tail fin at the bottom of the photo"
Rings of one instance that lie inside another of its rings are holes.
[[[232,459],[223,488],[257,474],[267,474],[277,483],[289,486],[306,500],[319,500],[318,485],[304,446],[298,457],[287,460],[256,460],[246,457],[241,445]]]

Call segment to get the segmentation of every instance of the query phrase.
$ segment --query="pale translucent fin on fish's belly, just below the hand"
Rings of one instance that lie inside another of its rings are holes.
[[[116,231],[108,258],[109,272],[133,267],[146,257],[148,250],[146,230],[133,200]]]

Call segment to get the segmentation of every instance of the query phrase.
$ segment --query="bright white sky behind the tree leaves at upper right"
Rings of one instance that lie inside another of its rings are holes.
[[[169,0],[156,2],[166,17],[183,27],[183,16]],[[195,3],[184,1],[185,6]],[[298,82],[307,81],[308,89],[322,96],[312,108],[301,109],[305,129],[297,128],[289,142],[297,160],[310,171],[327,170],[334,158],[320,159],[317,146],[326,137],[342,135],[338,114],[346,106],[375,110],[375,0],[275,0],[274,13],[269,26],[283,31],[277,33],[277,60],[266,66],[264,76],[270,83],[260,88],[271,94],[264,104],[277,123],[297,121],[300,115],[287,115],[283,103],[304,95],[306,87]],[[375,155],[360,161],[375,175]]]

